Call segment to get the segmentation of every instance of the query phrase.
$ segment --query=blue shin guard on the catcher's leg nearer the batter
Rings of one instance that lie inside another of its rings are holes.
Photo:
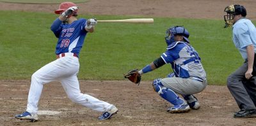
[[[175,92],[173,92],[172,89],[164,87],[164,85],[161,83],[161,78],[158,78],[153,81],[152,85],[154,90],[161,96],[163,99],[166,101],[174,104],[174,105],[179,105],[183,104],[184,101],[179,98]]]

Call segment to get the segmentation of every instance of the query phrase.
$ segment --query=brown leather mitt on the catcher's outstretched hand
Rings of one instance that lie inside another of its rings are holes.
[[[138,69],[132,69],[131,71],[128,71],[127,74],[124,74],[124,78],[128,78],[133,83],[138,83],[138,85],[140,85],[141,76],[138,71]]]

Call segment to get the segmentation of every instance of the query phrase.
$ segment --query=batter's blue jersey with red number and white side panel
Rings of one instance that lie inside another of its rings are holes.
[[[72,22],[72,24],[63,24],[59,18],[54,20],[51,30],[59,38],[56,55],[67,52],[79,55],[87,34],[84,29],[85,25],[86,20],[83,18]]]

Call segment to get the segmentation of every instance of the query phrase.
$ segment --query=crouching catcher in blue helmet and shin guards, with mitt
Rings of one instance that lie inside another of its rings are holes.
[[[174,73],[167,78],[157,78],[152,82],[154,90],[166,101],[173,104],[167,111],[184,113],[199,109],[200,104],[193,94],[202,92],[207,85],[206,73],[200,57],[189,44],[189,32],[182,26],[170,27],[166,31],[166,52],[143,69],[133,69],[124,75],[134,83],[139,83],[141,75],[170,63]],[[184,99],[177,94],[182,95]]]

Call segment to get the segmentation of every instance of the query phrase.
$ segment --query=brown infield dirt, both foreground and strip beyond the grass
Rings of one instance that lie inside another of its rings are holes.
[[[228,4],[243,4],[248,18],[256,19],[253,0],[90,0],[77,4],[79,13],[92,15],[143,15],[145,17],[182,17],[222,19]],[[180,7],[178,7],[180,6]],[[53,13],[58,4],[0,3],[0,10],[46,11]],[[256,118],[235,119],[236,102],[225,86],[207,86],[196,94],[201,108],[189,113],[166,112],[170,104],[152,90],[149,81],[138,87],[129,81],[80,80],[81,92],[115,104],[118,114],[98,121],[101,114],[71,102],[61,84],[44,86],[36,123],[15,120],[26,109],[30,80],[0,81],[0,125],[255,125]]]

